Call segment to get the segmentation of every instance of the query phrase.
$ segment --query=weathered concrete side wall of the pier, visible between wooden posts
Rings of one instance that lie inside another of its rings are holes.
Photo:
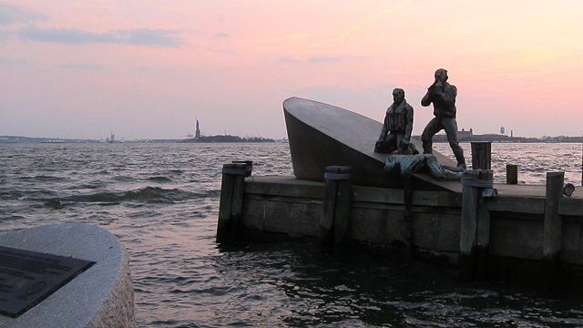
[[[520,260],[543,259],[544,193],[540,186],[496,186],[486,200],[491,217],[489,254]],[[544,186],[542,187],[544,190]],[[292,177],[245,180],[240,226],[253,231],[317,237],[322,215],[323,183]],[[407,244],[404,190],[352,186],[348,238],[376,246]],[[414,190],[411,231],[419,251],[449,255],[460,249],[461,193]],[[583,265],[583,200],[563,198],[559,261]]]

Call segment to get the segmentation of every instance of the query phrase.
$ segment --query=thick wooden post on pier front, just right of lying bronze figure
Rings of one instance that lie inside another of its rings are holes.
[[[486,275],[490,213],[485,195],[496,195],[493,178],[491,169],[470,169],[462,175],[459,264],[460,273],[467,280]]]

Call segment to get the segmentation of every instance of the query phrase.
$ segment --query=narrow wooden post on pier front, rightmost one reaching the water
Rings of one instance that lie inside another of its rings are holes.
[[[558,215],[558,202],[563,197],[564,182],[565,172],[547,172],[543,261],[548,282],[554,282],[557,278],[557,263],[562,242],[562,221]]]

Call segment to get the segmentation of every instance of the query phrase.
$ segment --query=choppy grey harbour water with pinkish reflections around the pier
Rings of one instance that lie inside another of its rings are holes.
[[[499,181],[518,164],[521,181],[566,170],[580,183],[580,145],[492,151]],[[87,222],[115,233],[142,327],[583,326],[577,295],[465,284],[433,264],[329,257],[310,243],[218,245],[220,168],[233,159],[253,160],[255,175],[292,174],[286,144],[0,145],[0,230]]]

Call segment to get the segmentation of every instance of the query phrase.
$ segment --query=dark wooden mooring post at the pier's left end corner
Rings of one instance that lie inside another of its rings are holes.
[[[245,177],[251,175],[249,165],[239,162],[222,166],[217,241],[228,240],[239,226],[245,195]]]

